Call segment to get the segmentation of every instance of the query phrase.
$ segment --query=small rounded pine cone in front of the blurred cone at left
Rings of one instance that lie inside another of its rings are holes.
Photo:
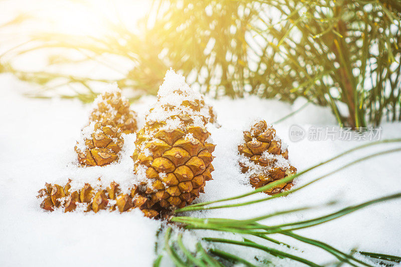
[[[82,129],[81,140],[77,141],[75,151],[78,161],[87,166],[103,166],[115,161],[124,139],[121,129],[110,119],[92,122]]]

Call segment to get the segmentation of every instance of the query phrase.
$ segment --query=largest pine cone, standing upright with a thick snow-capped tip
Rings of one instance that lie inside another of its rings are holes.
[[[134,206],[168,213],[204,192],[212,179],[215,145],[200,100],[183,76],[167,71],[158,100],[137,132],[132,159],[142,184]]]

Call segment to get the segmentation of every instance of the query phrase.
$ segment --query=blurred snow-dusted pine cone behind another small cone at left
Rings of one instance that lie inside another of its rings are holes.
[[[99,95],[94,105],[89,117],[91,122],[107,118],[111,119],[123,133],[133,133],[137,130],[137,115],[129,109],[129,101],[121,96],[120,89]]]

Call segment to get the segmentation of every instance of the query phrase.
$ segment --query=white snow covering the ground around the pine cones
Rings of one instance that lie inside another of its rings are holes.
[[[100,211],[94,213],[62,213],[43,211],[36,198],[37,190],[45,182],[62,182],[69,177],[102,175],[104,179],[124,177],[133,164],[129,156],[133,152],[135,136],[124,136],[123,157],[107,167],[78,168],[74,146],[83,126],[87,124],[90,105],[71,100],[35,100],[21,96],[32,89],[30,85],[16,81],[8,74],[0,75],[2,125],[0,142],[0,266],[71,266],[118,265],[151,266],[155,233],[161,222],[145,218],[140,211],[119,214]],[[144,113],[156,101],[156,97],[143,97],[131,108],[138,112],[139,126]],[[214,180],[207,182],[205,194],[197,201],[215,200],[252,190],[247,178],[240,172],[237,160],[237,144],[242,142],[242,131],[253,119],[272,123],[296,110],[305,103],[299,99],[293,105],[276,100],[247,99],[208,101],[218,114],[221,128],[210,126],[212,138],[217,144],[213,153]],[[326,108],[309,105],[295,116],[274,125],[277,134],[288,144],[289,158],[298,171],[330,158],[362,141],[308,141],[291,142],[288,131],[293,125],[307,129],[309,126],[336,126],[334,117]],[[401,136],[401,124],[383,124],[382,137]],[[374,151],[395,147],[394,144],[361,150],[335,161],[326,168],[319,168],[301,176],[295,186],[302,185],[319,174],[324,174],[355,157]],[[400,154],[388,154],[365,161],[331,175],[288,197],[282,197],[251,207],[238,207],[193,212],[203,217],[249,218],[257,215],[300,206],[319,206],[337,200],[337,204],[302,211],[296,214],[270,218],[264,223],[275,224],[307,219],[338,210],[341,207],[361,203],[376,197],[401,191],[399,182]],[[249,197],[260,198],[259,193]],[[328,242],[334,247],[349,251],[360,250],[401,255],[401,200],[393,200],[370,206],[334,221],[297,231],[301,235]],[[189,213],[188,213],[189,214]],[[184,242],[191,244],[200,236],[223,236],[212,231],[185,231]],[[229,238],[239,238],[225,234]],[[306,246],[290,238],[277,236],[299,247],[293,250],[320,264],[333,262],[326,252]],[[225,246],[231,253],[252,260],[263,258],[258,250],[235,245]],[[284,249],[284,248],[280,248]],[[296,266],[295,261],[273,259],[275,264]],[[163,265],[171,265],[163,260]]]

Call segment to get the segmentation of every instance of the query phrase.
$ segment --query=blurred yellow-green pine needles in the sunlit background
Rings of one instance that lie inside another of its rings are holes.
[[[99,83],[117,82],[132,100],[154,95],[172,67],[211,97],[304,97],[353,128],[401,120],[398,0],[154,0],[141,13],[134,31],[107,16],[101,36],[33,31],[0,54],[0,72],[40,85],[31,97],[90,102]],[[35,20],[24,13],[0,27]],[[38,51],[46,68],[16,67]],[[77,71],[88,62],[115,75]]]

